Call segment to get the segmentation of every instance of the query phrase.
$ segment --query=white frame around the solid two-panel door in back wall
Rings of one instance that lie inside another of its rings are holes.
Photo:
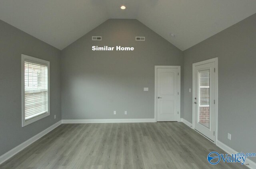
[[[178,122],[180,122],[180,66],[155,66],[155,122],[157,122],[157,68],[178,68],[178,92],[179,92],[179,106],[178,106]]]

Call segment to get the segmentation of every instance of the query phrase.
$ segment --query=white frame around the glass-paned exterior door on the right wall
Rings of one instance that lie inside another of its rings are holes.
[[[195,67],[198,65],[203,65],[206,63],[212,63],[215,62],[215,86],[216,86],[216,90],[215,90],[215,139],[214,139],[214,143],[216,144],[216,141],[218,139],[218,57],[212,58],[212,59],[208,59],[206,61],[201,61],[201,62],[197,62],[197,63],[193,63],[193,70],[192,70],[192,128],[195,130],[195,122],[194,122],[194,114],[195,114],[195,104],[194,104],[194,98],[195,98],[195,86],[194,86],[194,72],[195,72]],[[197,130],[196,130],[197,131]],[[198,132],[198,131],[197,131]],[[200,133],[200,132],[198,132]],[[200,133],[201,134],[201,133]],[[203,134],[201,134],[202,136],[204,136]],[[204,136],[205,137],[205,136]],[[207,137],[205,137],[207,138]],[[208,138],[207,138],[208,139]],[[208,139],[210,140],[210,139]],[[212,141],[212,140],[210,140]]]

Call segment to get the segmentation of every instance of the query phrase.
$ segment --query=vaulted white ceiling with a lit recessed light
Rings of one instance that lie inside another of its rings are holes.
[[[0,0],[1,20],[58,49],[107,19],[124,18],[183,51],[255,13],[256,0]]]

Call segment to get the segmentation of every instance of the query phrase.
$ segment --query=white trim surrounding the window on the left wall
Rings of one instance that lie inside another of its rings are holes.
[[[24,75],[25,59],[48,65],[48,112],[27,121],[25,120],[25,75]],[[34,123],[47,116],[50,116],[50,62],[49,61],[45,61],[45,60],[31,57],[24,54],[21,55],[21,92],[22,92],[21,94],[22,96],[22,127],[27,126],[28,124]]]

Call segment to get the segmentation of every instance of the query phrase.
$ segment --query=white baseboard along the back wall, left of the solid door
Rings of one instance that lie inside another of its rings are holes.
[[[155,122],[154,118],[131,118],[131,119],[84,119],[84,120],[62,120],[62,124],[78,123],[147,123]]]

